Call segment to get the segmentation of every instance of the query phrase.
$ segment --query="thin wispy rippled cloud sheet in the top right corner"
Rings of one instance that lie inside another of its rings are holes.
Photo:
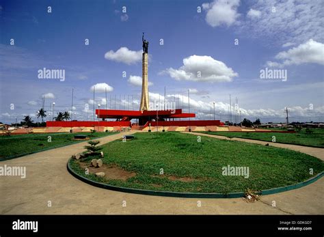
[[[249,37],[267,38],[280,44],[301,44],[309,39],[324,42],[323,1],[256,0],[250,8],[261,12],[262,17],[247,18],[241,24],[241,32]]]

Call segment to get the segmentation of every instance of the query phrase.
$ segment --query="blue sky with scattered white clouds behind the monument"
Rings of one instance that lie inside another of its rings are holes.
[[[70,110],[72,88],[78,120],[87,119],[93,103],[105,107],[104,87],[107,107],[110,96],[119,104],[121,95],[122,109],[138,109],[143,31],[150,42],[151,104],[163,101],[166,87],[166,100],[176,97],[177,109],[184,104],[186,110],[190,89],[191,112],[202,119],[212,116],[215,102],[217,118],[228,120],[231,94],[232,102],[239,98],[237,111],[252,120],[284,121],[288,107],[293,121],[323,121],[323,1],[0,1],[0,6],[1,122],[34,117],[43,95],[48,113],[52,102],[55,111]],[[65,80],[39,79],[42,68],[65,70]],[[287,80],[261,79],[265,68],[286,70]]]

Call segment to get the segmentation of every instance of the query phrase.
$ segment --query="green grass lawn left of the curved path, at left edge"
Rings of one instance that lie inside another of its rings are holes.
[[[70,145],[78,141],[72,140],[75,135],[88,135],[90,139],[104,137],[111,133],[47,133],[47,134],[25,134],[0,137],[0,161],[2,158],[23,156],[31,152],[55,148],[62,145]],[[51,136],[51,142],[49,142]]]

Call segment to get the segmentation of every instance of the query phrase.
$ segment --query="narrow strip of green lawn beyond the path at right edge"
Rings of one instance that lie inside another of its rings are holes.
[[[324,148],[324,129],[310,129],[312,133],[306,133],[303,129],[298,133],[247,133],[247,132],[202,132],[211,135],[221,135],[226,137],[240,137],[261,141],[272,141],[295,145],[307,145],[315,148]]]

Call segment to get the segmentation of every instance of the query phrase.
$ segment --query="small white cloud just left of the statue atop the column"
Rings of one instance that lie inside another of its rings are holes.
[[[116,52],[105,53],[105,59],[131,65],[141,61],[141,54],[142,51],[131,51],[129,48],[121,47]]]

